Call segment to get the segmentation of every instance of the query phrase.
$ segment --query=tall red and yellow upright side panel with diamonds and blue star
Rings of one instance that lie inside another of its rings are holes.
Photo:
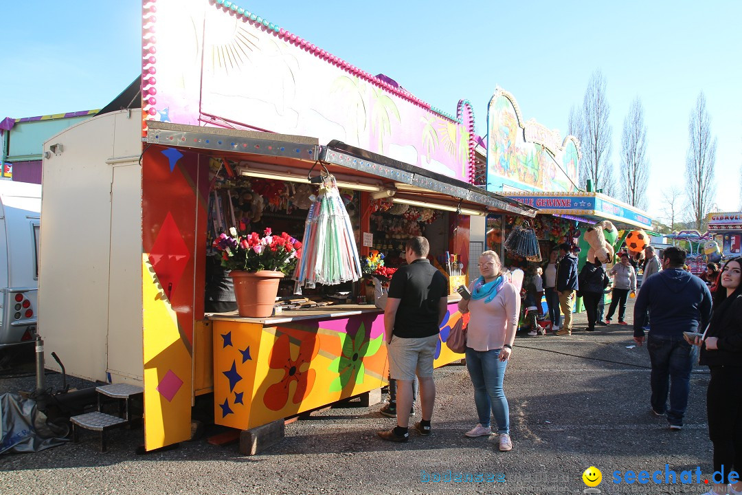
[[[194,306],[203,308],[208,163],[197,154],[152,145],[142,157],[142,307],[145,445],[191,436]],[[202,263],[203,264],[203,263]],[[201,313],[203,314],[203,313]]]

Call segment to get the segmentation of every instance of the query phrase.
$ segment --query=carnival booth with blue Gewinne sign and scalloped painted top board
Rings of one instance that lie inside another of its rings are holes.
[[[651,227],[645,212],[593,191],[590,181],[586,191],[581,190],[577,184],[579,163],[575,137],[562,140],[558,130],[546,128],[535,119],[526,121],[514,96],[496,88],[487,114],[487,190],[539,212],[526,226],[512,215],[488,218],[487,244],[499,250],[507,266],[525,269],[526,283],[536,263],[548,260],[550,252],[561,243],[580,246],[581,269],[590,248],[584,234],[603,220],[617,229],[617,235],[606,235],[614,248],[632,230]],[[539,253],[531,259],[506,246],[511,233],[524,228],[531,229],[539,243]]]

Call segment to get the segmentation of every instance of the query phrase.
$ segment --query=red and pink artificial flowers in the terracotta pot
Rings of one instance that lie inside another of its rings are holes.
[[[301,257],[301,242],[281,232],[273,235],[266,229],[263,237],[257,232],[237,235],[237,229],[229,229],[214,240],[214,248],[222,252],[222,266],[228,270],[257,272],[273,270],[290,275]]]

